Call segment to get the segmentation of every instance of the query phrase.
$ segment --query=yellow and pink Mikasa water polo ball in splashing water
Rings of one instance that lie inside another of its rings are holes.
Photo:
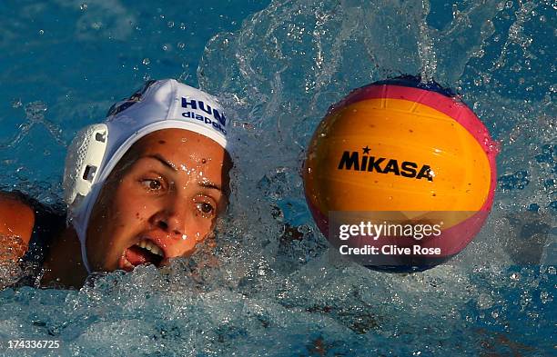
[[[441,237],[418,242],[441,244],[440,256],[366,264],[424,270],[461,252],[480,231],[493,202],[496,154],[480,119],[441,87],[408,78],[378,82],[331,106],[319,124],[304,164],[306,199],[328,237],[331,212],[373,212],[391,223],[442,221]],[[417,242],[384,237],[374,244],[394,243]]]

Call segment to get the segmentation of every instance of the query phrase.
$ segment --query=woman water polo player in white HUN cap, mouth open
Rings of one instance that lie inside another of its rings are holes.
[[[66,157],[66,216],[3,194],[0,233],[28,244],[22,261],[35,263],[43,286],[80,287],[89,273],[187,256],[228,202],[227,126],[209,94],[149,81],[113,105],[105,123],[76,135]]]

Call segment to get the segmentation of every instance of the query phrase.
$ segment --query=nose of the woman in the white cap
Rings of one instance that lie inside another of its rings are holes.
[[[162,209],[154,216],[155,225],[173,238],[182,238],[186,234],[186,202],[179,197],[166,200]]]

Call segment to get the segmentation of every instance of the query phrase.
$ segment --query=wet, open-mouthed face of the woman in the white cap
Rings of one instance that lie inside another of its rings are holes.
[[[148,134],[109,175],[87,228],[96,271],[133,270],[189,255],[226,209],[225,150],[206,136],[167,129]]]

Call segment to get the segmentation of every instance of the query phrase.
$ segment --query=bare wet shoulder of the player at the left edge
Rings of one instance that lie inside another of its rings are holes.
[[[0,234],[18,236],[28,244],[35,225],[35,211],[21,193],[0,192]]]

